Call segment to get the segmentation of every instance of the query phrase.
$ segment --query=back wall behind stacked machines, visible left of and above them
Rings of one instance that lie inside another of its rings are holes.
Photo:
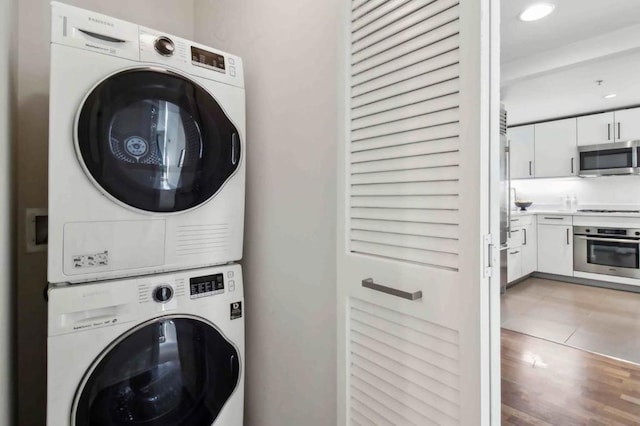
[[[191,0],[66,2],[178,36],[193,37],[194,5]],[[46,407],[47,311],[42,296],[46,284],[46,254],[25,253],[22,230],[25,209],[47,205],[50,6],[44,0],[20,0],[18,3],[17,424],[27,426],[44,425]],[[4,0],[2,4],[5,4]],[[4,161],[6,157],[0,154],[0,158]],[[0,170],[4,173],[5,169],[0,167]],[[4,183],[4,180],[0,178],[0,182]],[[0,247],[2,244],[0,242]],[[1,251],[0,259],[5,259]],[[4,364],[0,362],[0,365]],[[0,412],[3,412],[1,408]]]

